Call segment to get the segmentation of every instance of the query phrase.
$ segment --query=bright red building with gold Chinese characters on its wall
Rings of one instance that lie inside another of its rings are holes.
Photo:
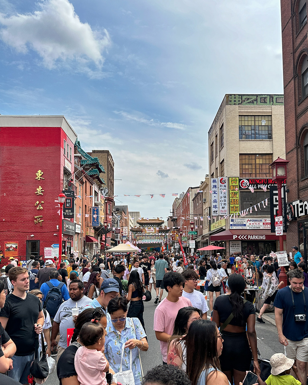
[[[55,200],[74,174],[77,135],[64,116],[0,115],[0,127],[0,249],[23,260],[44,255],[59,243]],[[63,251],[74,235],[64,231]]]

